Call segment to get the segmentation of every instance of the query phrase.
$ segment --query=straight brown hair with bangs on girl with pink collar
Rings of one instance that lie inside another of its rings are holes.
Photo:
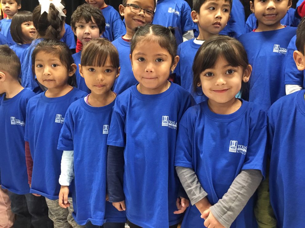
[[[107,59],[111,66],[120,66],[119,53],[111,42],[104,38],[90,40],[81,52],[81,66],[104,66]]]

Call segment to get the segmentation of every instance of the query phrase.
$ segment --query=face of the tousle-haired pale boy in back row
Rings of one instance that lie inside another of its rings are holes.
[[[75,30],[73,29],[74,34],[77,36],[77,39],[81,41],[83,45],[87,44],[92,39],[99,38],[102,34],[100,34],[100,30],[95,23],[93,17],[92,21],[86,23],[84,19],[77,21],[75,23]]]

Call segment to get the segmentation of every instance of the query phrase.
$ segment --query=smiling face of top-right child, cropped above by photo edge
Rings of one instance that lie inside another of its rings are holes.
[[[290,0],[254,0],[250,9],[258,21],[258,31],[279,29],[280,21],[291,7]]]

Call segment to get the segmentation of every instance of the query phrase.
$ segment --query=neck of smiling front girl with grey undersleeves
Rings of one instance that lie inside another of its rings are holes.
[[[208,106],[216,114],[228,115],[236,112],[241,107],[241,101],[235,97],[226,103],[217,103],[216,101],[208,99]]]

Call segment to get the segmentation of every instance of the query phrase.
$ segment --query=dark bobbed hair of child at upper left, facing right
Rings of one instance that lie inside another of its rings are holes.
[[[21,32],[21,24],[27,21],[33,21],[33,13],[30,11],[20,11],[16,13],[12,19],[10,34],[13,40],[18,44],[22,44],[24,42]]]

